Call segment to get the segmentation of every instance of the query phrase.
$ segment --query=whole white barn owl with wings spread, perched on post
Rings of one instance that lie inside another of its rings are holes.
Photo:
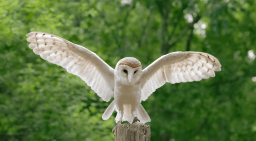
[[[108,102],[114,98],[102,119],[109,119],[116,110],[118,124],[132,123],[135,117],[142,124],[150,122],[140,103],[166,82],[199,81],[221,71],[218,59],[204,52],[172,52],[143,70],[136,58],[125,57],[113,69],[94,52],[61,37],[43,32],[31,32],[27,36],[29,48],[35,54],[82,78],[102,100]]]

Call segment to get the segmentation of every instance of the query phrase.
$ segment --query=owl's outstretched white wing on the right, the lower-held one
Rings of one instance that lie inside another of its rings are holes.
[[[169,83],[193,82],[215,77],[221,64],[204,52],[172,52],[163,55],[142,71],[141,100],[145,101],[156,89]]]

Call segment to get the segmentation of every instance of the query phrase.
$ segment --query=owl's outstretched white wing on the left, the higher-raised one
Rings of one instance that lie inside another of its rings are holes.
[[[35,54],[82,78],[104,101],[113,97],[114,69],[94,52],[49,33],[31,32],[27,36]]]

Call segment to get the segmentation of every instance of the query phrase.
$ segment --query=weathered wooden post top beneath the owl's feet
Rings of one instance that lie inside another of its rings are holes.
[[[150,141],[150,126],[138,123],[117,125],[115,141]]]

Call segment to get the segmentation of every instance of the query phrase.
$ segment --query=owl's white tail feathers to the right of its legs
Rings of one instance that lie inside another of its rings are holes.
[[[145,124],[146,122],[151,121],[146,110],[143,108],[143,106],[141,104],[139,104],[139,106],[137,107],[137,109],[134,112],[135,112],[135,117],[137,117],[140,120],[139,123]]]

